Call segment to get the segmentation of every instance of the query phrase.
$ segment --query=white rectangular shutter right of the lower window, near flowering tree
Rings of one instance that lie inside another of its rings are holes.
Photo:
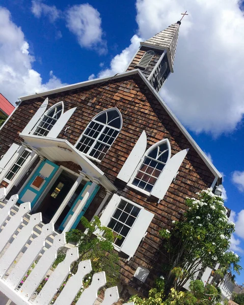
[[[120,248],[120,251],[127,254],[129,257],[132,257],[137,251],[137,248],[144,237],[147,229],[154,217],[154,214],[142,208],[140,213],[135,220],[132,228],[130,229],[128,235],[125,238],[125,241]]]

